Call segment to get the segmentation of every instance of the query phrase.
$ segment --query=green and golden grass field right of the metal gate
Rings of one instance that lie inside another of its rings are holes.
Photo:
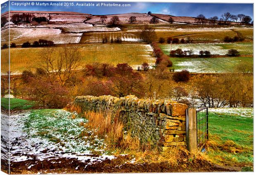
[[[206,155],[215,163],[253,163],[253,109],[209,111]]]

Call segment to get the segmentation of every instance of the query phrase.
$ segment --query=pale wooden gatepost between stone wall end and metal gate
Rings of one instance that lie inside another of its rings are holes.
[[[186,119],[187,149],[197,151],[197,110],[187,109]]]

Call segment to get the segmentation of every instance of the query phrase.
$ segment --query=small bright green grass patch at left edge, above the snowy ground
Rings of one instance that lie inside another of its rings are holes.
[[[13,109],[31,109],[34,106],[34,102],[24,100],[24,99],[13,99],[10,98],[10,110]],[[1,107],[4,109],[9,108],[9,99],[8,98],[1,98]]]

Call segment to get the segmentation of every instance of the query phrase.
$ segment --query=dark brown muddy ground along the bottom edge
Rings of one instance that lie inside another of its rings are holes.
[[[36,161],[36,165],[28,170],[34,160],[11,163],[11,174],[31,173],[164,173],[164,172],[227,172],[240,171],[239,167],[218,166],[207,161],[183,161],[176,165],[163,163],[124,163],[129,156],[120,156],[116,159],[105,159],[100,163],[90,164],[78,161],[76,158],[58,158],[55,160]],[[239,165],[238,165],[239,166]],[[243,166],[243,165],[240,165]]]

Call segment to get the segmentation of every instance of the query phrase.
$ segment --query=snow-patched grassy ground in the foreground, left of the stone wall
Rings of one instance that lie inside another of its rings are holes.
[[[100,150],[103,140],[94,137],[93,143],[86,140],[86,136],[79,136],[86,128],[80,125],[81,122],[86,123],[85,118],[72,119],[75,113],[64,110],[55,110],[45,113],[46,116],[35,116],[31,118],[33,112],[23,112],[8,117],[2,114],[1,121],[6,127],[1,128],[2,137],[5,142],[10,137],[10,161],[20,162],[26,160],[35,160],[34,164],[30,164],[28,169],[36,164],[36,161],[54,160],[57,158],[77,158],[83,163],[100,162],[115,158],[114,156],[102,154],[95,156],[91,151]],[[10,121],[8,123],[8,120]],[[44,126],[45,125],[45,126]],[[44,127],[43,127],[44,126]],[[43,129],[42,129],[43,128]],[[86,131],[90,133],[90,131]],[[90,136],[89,136],[90,137]],[[97,144],[95,144],[97,143]],[[7,147],[2,145],[4,150]],[[2,156],[6,159],[6,156]]]

